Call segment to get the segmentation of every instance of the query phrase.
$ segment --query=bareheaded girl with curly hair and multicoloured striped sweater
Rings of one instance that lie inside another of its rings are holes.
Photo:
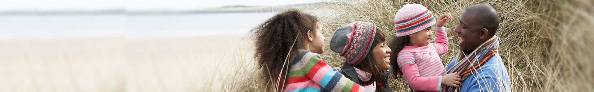
[[[367,91],[320,59],[322,33],[315,17],[296,9],[254,28],[254,58],[263,69],[264,85],[285,91]]]

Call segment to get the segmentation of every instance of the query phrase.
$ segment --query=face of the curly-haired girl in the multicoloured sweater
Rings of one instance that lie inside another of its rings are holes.
[[[317,53],[317,54],[323,54],[324,53],[324,35],[322,32],[322,25],[320,24],[320,22],[316,23],[317,25],[317,29],[315,29],[315,36],[312,37],[311,42],[309,42],[309,51]]]

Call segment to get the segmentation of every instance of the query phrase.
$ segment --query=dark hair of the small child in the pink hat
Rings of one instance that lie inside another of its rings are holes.
[[[402,71],[400,70],[400,66],[398,65],[398,53],[402,51],[402,48],[405,48],[405,45],[409,43],[410,37],[408,35],[402,37],[396,37],[393,35],[388,42],[388,47],[392,49],[390,52],[390,65],[394,69],[392,73],[394,74],[394,78],[399,78],[399,75],[402,75]]]

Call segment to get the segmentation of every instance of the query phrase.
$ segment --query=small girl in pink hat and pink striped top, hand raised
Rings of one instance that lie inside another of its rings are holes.
[[[447,28],[443,27],[447,19],[451,19],[449,13],[440,16],[435,43],[430,43],[431,26],[435,24],[431,11],[423,5],[407,4],[396,13],[396,37],[389,43],[394,50],[391,54],[397,55],[390,57],[396,61],[391,65],[398,66],[394,68],[394,76],[403,74],[412,91],[445,91],[445,86],[460,84],[460,75],[445,74],[439,57],[448,48]]]

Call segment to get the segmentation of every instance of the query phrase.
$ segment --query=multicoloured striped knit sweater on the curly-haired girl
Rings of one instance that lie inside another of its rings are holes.
[[[359,91],[368,92],[364,87],[333,70],[321,60],[319,54],[299,50],[290,64],[285,91]]]

